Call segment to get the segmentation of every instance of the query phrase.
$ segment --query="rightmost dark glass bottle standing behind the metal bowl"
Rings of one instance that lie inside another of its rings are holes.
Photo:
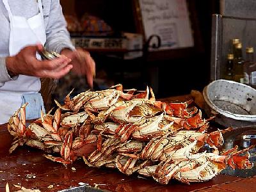
[[[253,56],[253,47],[246,47],[245,51],[245,61],[244,61],[244,83],[250,84],[250,66],[253,65],[254,56]]]

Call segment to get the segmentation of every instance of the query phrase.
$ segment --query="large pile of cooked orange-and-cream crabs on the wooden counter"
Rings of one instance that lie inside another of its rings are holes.
[[[157,101],[150,88],[123,90],[122,84],[107,90],[86,91],[58,108],[42,113],[26,127],[24,104],[10,118],[8,131],[14,136],[10,153],[20,145],[44,150],[52,161],[70,164],[82,158],[88,166],[118,168],[131,175],[153,177],[161,184],[170,179],[203,182],[227,166],[252,168],[249,150],[232,148],[220,154],[224,130],[207,131],[209,121],[187,102]],[[52,114],[52,115],[51,115]],[[86,145],[93,152],[84,155]],[[205,150],[211,148],[211,152]]]

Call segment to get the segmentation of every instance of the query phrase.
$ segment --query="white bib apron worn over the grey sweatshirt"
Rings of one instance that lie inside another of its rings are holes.
[[[45,44],[45,26],[42,0],[38,0],[39,13],[29,19],[12,14],[8,0],[3,0],[10,19],[10,56],[17,54],[28,45]],[[40,117],[44,102],[40,93],[40,78],[19,75],[13,81],[7,81],[0,87],[0,124],[8,122],[10,116],[20,108],[22,103],[29,102],[26,118]]]

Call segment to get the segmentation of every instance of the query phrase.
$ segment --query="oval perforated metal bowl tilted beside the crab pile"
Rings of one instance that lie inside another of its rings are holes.
[[[220,114],[222,125],[238,127],[256,122],[256,90],[251,86],[219,79],[205,86],[203,96],[210,109],[207,112]]]

